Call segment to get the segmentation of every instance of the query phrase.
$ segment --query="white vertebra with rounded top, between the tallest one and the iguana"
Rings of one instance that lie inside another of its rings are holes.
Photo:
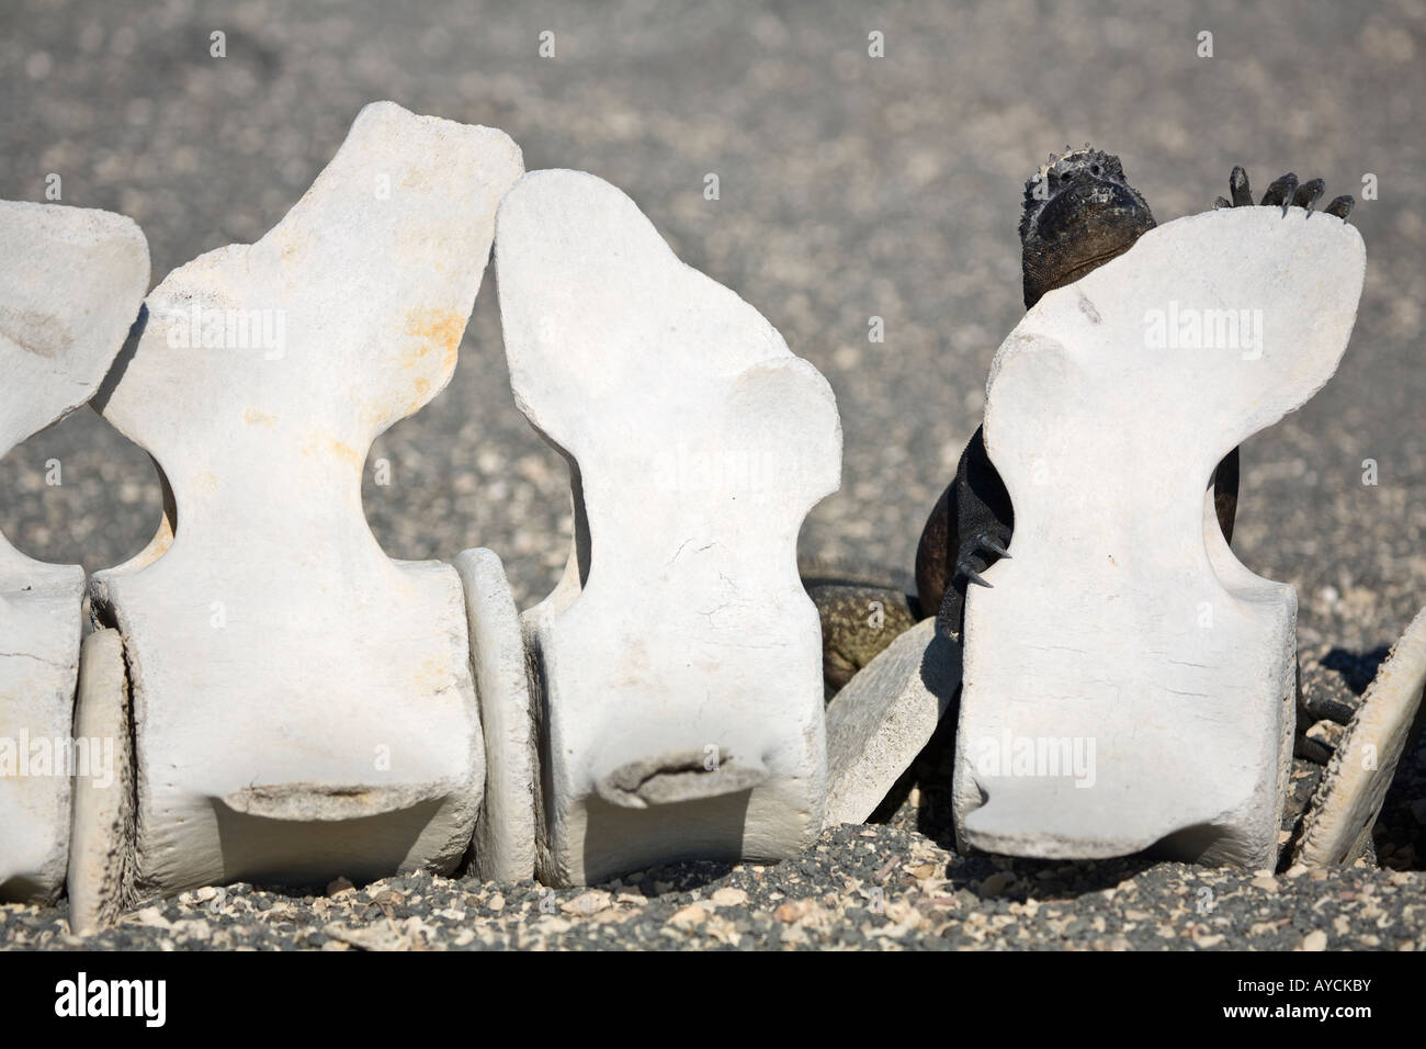
[[[522,618],[543,689],[540,878],[787,856],[826,792],[796,544],[838,484],[831,388],[590,174],[528,174],[495,257],[515,400],[575,504],[565,577]]]

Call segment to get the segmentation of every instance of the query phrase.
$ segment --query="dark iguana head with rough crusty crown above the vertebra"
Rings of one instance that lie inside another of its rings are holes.
[[[1050,154],[1025,183],[1020,218],[1025,308],[1071,284],[1154,228],[1154,213],[1124,177],[1119,158],[1091,148]]]

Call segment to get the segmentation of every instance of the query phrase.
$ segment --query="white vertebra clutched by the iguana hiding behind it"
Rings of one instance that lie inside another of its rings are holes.
[[[1192,216],[1047,294],[1000,347],[985,447],[1014,559],[967,609],[964,845],[1275,865],[1296,592],[1238,562],[1205,490],[1336,371],[1363,268],[1332,216]]]

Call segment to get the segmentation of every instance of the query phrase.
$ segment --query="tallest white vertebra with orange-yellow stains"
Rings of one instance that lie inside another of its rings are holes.
[[[520,171],[498,130],[374,103],[265,237],[150,294],[94,401],[177,505],[165,551],[91,582],[130,672],[137,835],[110,815],[74,833],[86,856],[133,851],[124,903],[449,871],[469,845],[485,768],[461,581],[385,555],[361,471],[451,380]]]

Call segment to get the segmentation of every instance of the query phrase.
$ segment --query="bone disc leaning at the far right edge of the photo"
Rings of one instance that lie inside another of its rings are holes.
[[[1366,849],[1386,791],[1422,719],[1426,608],[1392,647],[1328,762],[1308,808],[1295,863],[1350,863]]]

